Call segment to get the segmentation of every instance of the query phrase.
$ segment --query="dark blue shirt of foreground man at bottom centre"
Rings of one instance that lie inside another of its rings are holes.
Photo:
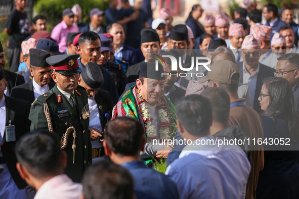
[[[175,182],[168,176],[147,167],[144,162],[126,162],[120,166],[129,170],[133,176],[137,199],[179,198]]]

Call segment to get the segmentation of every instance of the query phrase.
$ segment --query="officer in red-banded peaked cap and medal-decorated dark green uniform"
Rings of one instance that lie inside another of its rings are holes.
[[[46,59],[56,85],[33,102],[29,115],[31,131],[49,129],[62,138],[61,149],[67,153],[64,172],[74,182],[81,180],[84,170],[92,163],[88,95],[78,86],[81,72],[78,57],[59,55]]]

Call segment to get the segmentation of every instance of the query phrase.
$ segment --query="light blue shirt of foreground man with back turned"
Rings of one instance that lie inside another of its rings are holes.
[[[207,143],[215,138],[209,134],[197,140]],[[167,167],[165,174],[177,183],[181,199],[239,199],[245,198],[250,169],[239,146],[196,145],[194,140],[184,147],[179,159]]]

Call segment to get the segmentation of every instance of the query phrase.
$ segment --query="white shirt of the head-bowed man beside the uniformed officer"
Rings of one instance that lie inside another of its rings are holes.
[[[88,105],[89,105],[89,111],[90,111],[90,116],[89,116],[89,129],[95,128],[100,131],[103,130],[102,125],[101,125],[101,119],[100,119],[100,114],[99,114],[99,109],[98,105],[95,101],[95,95],[88,98]],[[91,141],[92,142],[92,148],[100,148],[103,146],[103,143],[100,142],[100,139]]]

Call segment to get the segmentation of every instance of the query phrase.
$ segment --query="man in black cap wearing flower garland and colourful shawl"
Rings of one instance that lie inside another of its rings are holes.
[[[136,85],[122,96],[113,108],[112,120],[116,117],[129,116],[140,121],[147,138],[141,158],[149,158],[161,150],[169,151],[161,140],[174,136],[176,128],[176,108],[164,92],[164,70],[161,64],[156,69],[155,63],[142,63]],[[156,140],[160,141],[157,143]],[[165,142],[167,146],[167,142]],[[163,149],[164,148],[164,149]]]

